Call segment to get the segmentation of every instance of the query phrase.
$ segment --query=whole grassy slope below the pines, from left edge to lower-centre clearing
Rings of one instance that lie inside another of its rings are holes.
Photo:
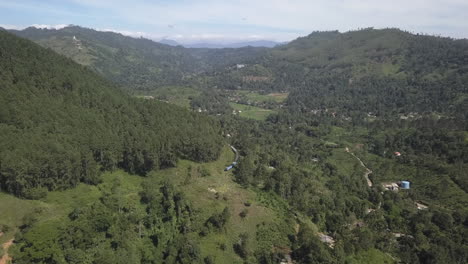
[[[294,233],[295,227],[295,221],[288,214],[288,206],[284,201],[269,194],[244,189],[232,181],[232,172],[224,172],[223,169],[233,158],[233,153],[226,146],[220,159],[215,162],[199,164],[180,161],[176,168],[152,172],[149,175],[161,181],[171,179],[179,186],[195,208],[196,219],[193,224],[196,227],[203,226],[211,215],[220,213],[225,207],[230,209],[231,218],[225,231],[211,232],[202,238],[196,232],[190,234],[194,241],[198,241],[203,257],[214,256],[216,263],[243,262],[232,248],[241,233],[249,234],[250,249],[254,252],[257,247],[272,248],[272,245],[288,248],[289,241],[286,237],[287,234]],[[210,176],[199,175],[198,168],[201,166],[210,172]],[[188,171],[191,172],[191,177],[187,176]],[[10,227],[10,231],[0,238],[0,242],[13,237],[15,231],[23,224],[24,216],[34,215],[38,221],[26,235],[40,236],[45,243],[43,250],[47,250],[47,241],[58,236],[58,227],[69,221],[69,213],[74,208],[97,201],[116,178],[120,178],[123,195],[139,200],[138,193],[144,178],[122,171],[104,174],[103,183],[97,186],[80,184],[66,191],[50,192],[41,201],[21,200],[0,193],[0,224]],[[216,199],[213,190],[219,192],[219,199]],[[224,197],[226,199],[223,199]],[[250,202],[251,205],[246,206],[246,202]],[[248,214],[242,218],[239,214],[244,208],[248,209]],[[261,236],[262,243],[256,242],[257,234]],[[220,249],[221,244],[226,245],[225,251]]]

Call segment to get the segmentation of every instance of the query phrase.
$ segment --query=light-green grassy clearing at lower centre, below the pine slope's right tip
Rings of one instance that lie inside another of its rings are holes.
[[[287,220],[290,217],[287,204],[267,206],[279,202],[265,193],[259,199],[258,192],[242,188],[232,180],[231,171],[224,171],[233,159],[234,154],[226,146],[215,162],[198,164],[180,161],[176,168],[154,172],[150,176],[175,181],[197,212],[194,223],[196,226],[202,226],[211,215],[220,213],[225,207],[229,208],[231,218],[224,231],[210,232],[202,238],[198,234],[191,234],[194,240],[200,241],[202,255],[213,256],[216,263],[243,263],[232,247],[241,233],[249,234],[253,252],[258,247],[271,248],[273,244],[288,247],[289,242],[284,241],[284,238],[287,233],[294,232],[294,223]],[[209,176],[202,177],[198,173],[202,166],[209,171]],[[240,213],[245,209],[248,213],[243,218]],[[265,240],[263,244],[256,243],[257,236],[268,237],[269,240]],[[221,249],[223,245],[225,250]]]

